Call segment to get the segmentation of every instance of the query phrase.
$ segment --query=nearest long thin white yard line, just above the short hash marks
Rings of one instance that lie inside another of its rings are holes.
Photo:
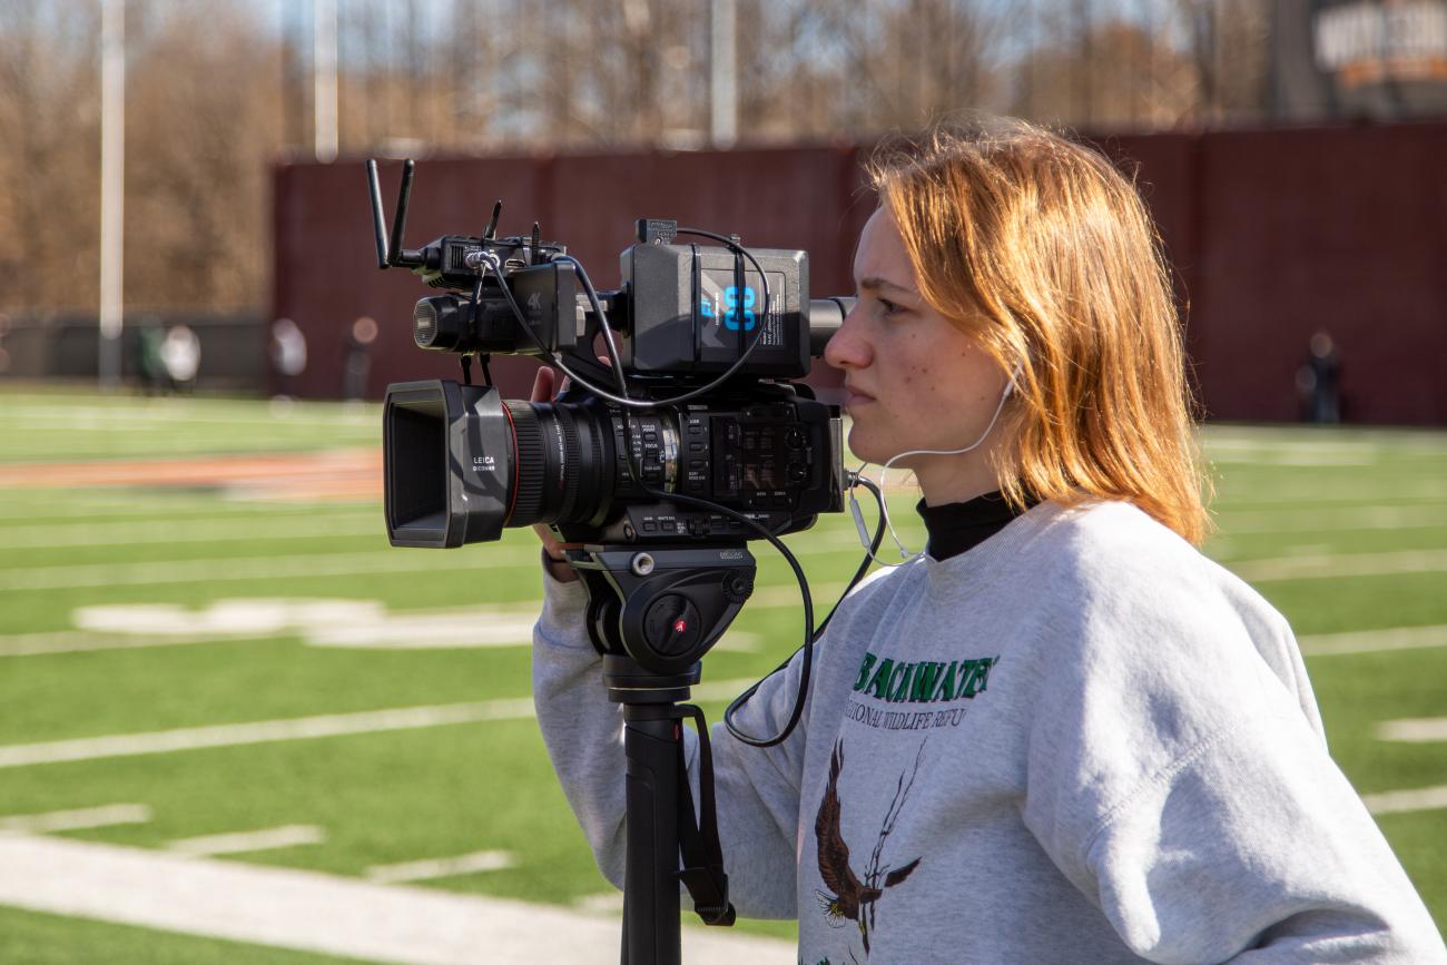
[[[752,680],[718,680],[702,683],[693,687],[692,693],[695,700],[729,700],[742,693],[745,687],[752,686]],[[252,723],[221,723],[207,728],[150,731],[148,734],[114,734],[71,741],[10,744],[0,745],[0,768],[96,761],[100,758],[137,757],[142,754],[169,754],[172,751],[271,744],[275,741],[305,741],[352,734],[376,734],[379,731],[434,728],[447,723],[475,723],[478,720],[525,720],[531,716],[532,699],[517,697],[486,700],[482,703],[444,703],[424,707],[396,707],[391,710],[360,710],[357,713],[328,713],[314,718],[256,720]]]

